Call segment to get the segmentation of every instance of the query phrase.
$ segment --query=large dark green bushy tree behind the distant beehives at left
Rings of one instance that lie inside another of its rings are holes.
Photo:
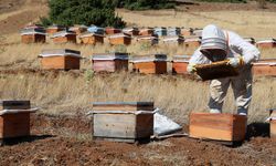
[[[123,28],[126,24],[115,13],[116,3],[113,0],[50,0],[49,7],[50,22],[61,25],[95,24]]]

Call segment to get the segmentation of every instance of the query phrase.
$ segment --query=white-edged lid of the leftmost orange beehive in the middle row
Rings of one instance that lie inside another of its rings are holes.
[[[70,49],[51,49],[51,50],[42,50],[40,58],[45,56],[75,56],[75,58],[82,58],[81,52],[76,50],[70,50]]]

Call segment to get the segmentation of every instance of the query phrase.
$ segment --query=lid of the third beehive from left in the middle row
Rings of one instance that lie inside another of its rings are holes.
[[[166,54],[147,54],[147,55],[135,55],[131,62],[150,62],[150,61],[167,61]]]

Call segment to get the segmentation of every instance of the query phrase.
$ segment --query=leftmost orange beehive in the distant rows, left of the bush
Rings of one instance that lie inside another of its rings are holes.
[[[44,29],[28,28],[21,31],[22,43],[44,43],[46,41],[46,33]]]

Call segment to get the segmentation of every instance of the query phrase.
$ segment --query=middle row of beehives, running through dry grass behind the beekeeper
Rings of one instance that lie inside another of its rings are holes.
[[[79,70],[81,52],[68,49],[43,50],[39,55],[42,69],[45,70]],[[93,71],[117,72],[127,71],[132,64],[132,71],[145,74],[164,74],[168,72],[168,63],[172,63],[172,73],[187,74],[189,55],[166,54],[132,55],[128,53],[98,53],[91,58]],[[170,71],[170,69],[169,69]],[[255,75],[276,75],[276,59],[263,59],[253,63]]]

